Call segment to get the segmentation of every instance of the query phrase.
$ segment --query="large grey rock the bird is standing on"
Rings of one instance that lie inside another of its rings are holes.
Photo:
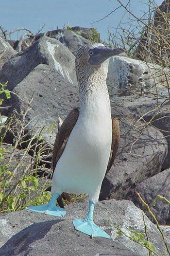
[[[133,202],[111,200],[96,205],[95,223],[104,228],[113,241],[105,238],[90,239],[89,236],[74,230],[72,220],[85,218],[87,207],[87,202],[68,205],[65,219],[56,219],[28,210],[0,215],[0,243],[3,245],[0,255],[148,256],[145,248],[118,235],[110,222],[111,219],[127,234],[130,233],[129,228],[144,233],[142,212]],[[147,217],[144,219],[149,240],[161,255],[164,248],[161,235]]]

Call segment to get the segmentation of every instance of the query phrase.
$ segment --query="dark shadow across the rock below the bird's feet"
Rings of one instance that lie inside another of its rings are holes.
[[[64,219],[55,219],[50,221],[38,222],[24,228],[12,238],[10,238],[1,248],[0,256],[17,256],[26,251],[28,246],[36,240],[44,238],[51,230],[52,225],[63,221]]]

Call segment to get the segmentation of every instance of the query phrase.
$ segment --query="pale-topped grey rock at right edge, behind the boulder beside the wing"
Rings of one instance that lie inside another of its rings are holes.
[[[136,120],[143,116],[142,120],[151,121],[151,125],[159,129],[165,136],[168,143],[168,154],[163,162],[162,170],[170,168],[170,101],[166,92],[165,89],[164,97],[160,95],[156,99],[147,96],[113,98],[113,101],[118,102],[118,104],[122,102],[122,105],[133,113]]]

